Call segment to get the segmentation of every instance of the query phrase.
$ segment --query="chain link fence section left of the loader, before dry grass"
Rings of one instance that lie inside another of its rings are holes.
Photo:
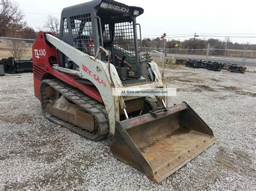
[[[14,57],[17,60],[32,58],[35,39],[0,37],[0,60]]]

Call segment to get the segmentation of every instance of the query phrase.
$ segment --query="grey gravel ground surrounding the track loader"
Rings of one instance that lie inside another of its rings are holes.
[[[110,140],[91,142],[46,120],[32,74],[0,77],[0,189],[256,189],[256,74],[165,68],[169,87],[217,143],[161,183],[123,164]]]

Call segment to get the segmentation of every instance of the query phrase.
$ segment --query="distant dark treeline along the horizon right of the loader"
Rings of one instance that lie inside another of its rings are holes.
[[[156,39],[143,39],[142,43],[146,47],[157,47],[157,48],[164,48],[164,40],[160,38]],[[227,49],[241,49],[243,50],[245,47],[248,47],[248,50],[256,51],[256,45],[251,45],[250,43],[246,44],[239,44],[239,43],[232,43],[231,39],[229,37],[225,38],[224,41],[219,39],[208,39],[208,40],[202,40],[202,39],[188,39],[184,41],[179,40],[167,40],[165,44],[165,48],[184,48],[186,49],[189,47],[189,49],[207,49],[207,45],[210,44],[211,48],[218,48],[218,49],[225,49],[227,46]]]

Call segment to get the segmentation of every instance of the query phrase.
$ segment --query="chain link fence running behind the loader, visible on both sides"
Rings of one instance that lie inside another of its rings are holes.
[[[16,59],[31,59],[32,45],[35,39],[29,38],[9,38],[0,37],[0,59],[8,58],[10,56],[18,57]],[[143,47],[143,52],[158,51],[166,56],[182,56],[184,59],[205,59],[208,58],[224,58],[224,59],[238,59],[238,60],[253,60],[256,61],[256,51],[248,50],[246,47],[243,50],[239,49],[218,49],[211,48],[208,45],[207,49],[193,49],[187,47],[183,48],[156,48]],[[159,57],[159,55],[156,54]],[[163,58],[156,58],[162,60]]]

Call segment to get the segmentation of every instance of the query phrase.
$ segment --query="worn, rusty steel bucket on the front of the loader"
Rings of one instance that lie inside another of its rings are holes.
[[[111,144],[117,159],[157,182],[216,141],[209,126],[186,102],[166,109],[117,122]]]

